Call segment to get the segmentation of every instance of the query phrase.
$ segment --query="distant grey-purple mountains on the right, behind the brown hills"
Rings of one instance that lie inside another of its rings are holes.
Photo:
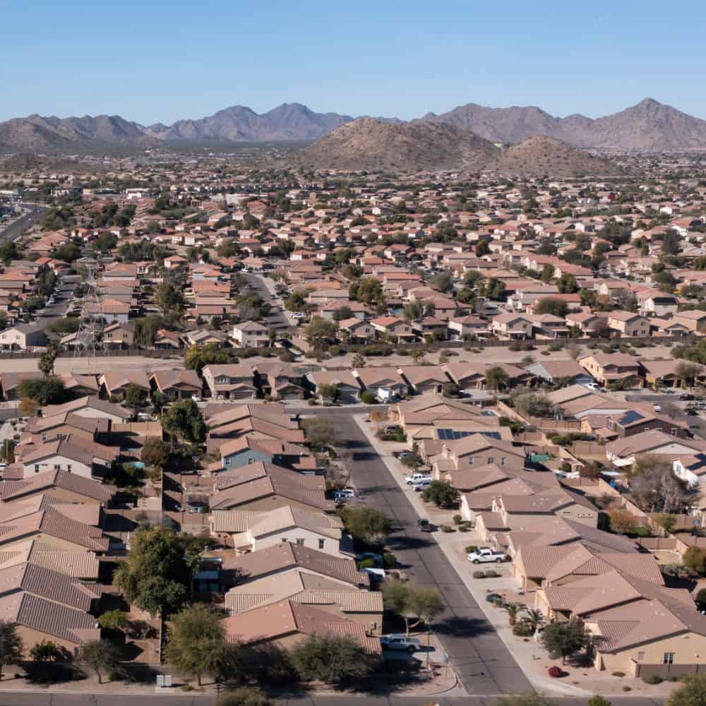
[[[441,115],[426,115],[422,120],[472,130],[494,143],[514,144],[544,135],[585,148],[706,149],[706,121],[652,98],[595,119],[578,114],[556,118],[535,106],[486,108],[469,103]]]

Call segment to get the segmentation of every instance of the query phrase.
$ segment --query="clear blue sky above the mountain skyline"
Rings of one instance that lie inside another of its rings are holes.
[[[675,0],[0,0],[0,120],[233,104],[420,116],[456,105],[706,119],[706,3]]]

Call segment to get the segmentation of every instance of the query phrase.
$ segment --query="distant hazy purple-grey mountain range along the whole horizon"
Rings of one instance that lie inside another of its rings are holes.
[[[143,126],[120,116],[57,118],[30,115],[0,122],[4,152],[67,153],[114,145],[141,147],[164,142],[294,142],[321,138],[352,122],[349,115],[316,113],[299,103],[285,103],[258,114],[235,105],[200,119],[172,125]],[[381,124],[402,124],[377,118]],[[426,114],[412,123],[447,124],[492,143],[517,144],[547,136],[579,148],[627,150],[706,149],[706,121],[646,98],[601,118],[575,114],[558,118],[530,107],[488,108],[474,103],[443,114]]]

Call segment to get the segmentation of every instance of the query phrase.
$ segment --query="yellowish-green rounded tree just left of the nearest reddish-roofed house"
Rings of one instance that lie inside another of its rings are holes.
[[[198,686],[203,674],[220,676],[229,664],[234,665],[236,650],[225,641],[220,616],[205,604],[182,609],[167,626],[167,662],[196,676]]]

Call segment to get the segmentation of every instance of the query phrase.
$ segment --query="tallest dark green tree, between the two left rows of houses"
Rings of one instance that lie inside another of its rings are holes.
[[[130,554],[117,568],[113,583],[128,602],[156,616],[181,608],[192,575],[185,540],[164,527],[154,527],[132,535]]]

